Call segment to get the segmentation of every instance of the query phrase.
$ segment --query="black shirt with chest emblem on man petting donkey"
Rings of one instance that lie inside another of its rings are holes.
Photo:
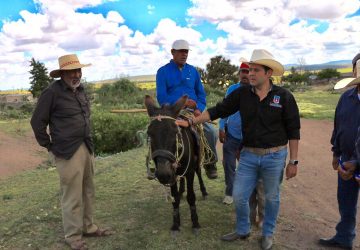
[[[272,85],[260,101],[252,86],[243,86],[208,109],[211,120],[237,111],[241,114],[246,147],[271,148],[300,139],[299,109],[293,95],[284,88]]]

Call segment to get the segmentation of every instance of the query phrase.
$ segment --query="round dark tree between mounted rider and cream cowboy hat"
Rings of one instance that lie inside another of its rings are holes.
[[[230,60],[223,56],[215,56],[206,64],[206,71],[200,72],[200,76],[203,82],[211,87],[226,87],[230,83],[238,82],[237,69]]]

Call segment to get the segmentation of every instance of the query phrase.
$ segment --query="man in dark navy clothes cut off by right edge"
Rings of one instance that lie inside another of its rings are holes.
[[[319,244],[328,247],[352,249],[356,236],[356,210],[359,185],[356,182],[356,135],[360,127],[360,53],[352,60],[353,75],[335,85],[335,89],[356,86],[345,91],[336,106],[334,130],[331,137],[332,167],[338,171],[337,200],[340,221],[336,234],[321,238]]]

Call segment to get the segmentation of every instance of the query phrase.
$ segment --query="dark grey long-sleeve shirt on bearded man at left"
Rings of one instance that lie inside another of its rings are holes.
[[[90,104],[81,85],[73,92],[62,80],[53,82],[41,93],[30,123],[40,146],[57,157],[70,159],[83,142],[93,153]]]

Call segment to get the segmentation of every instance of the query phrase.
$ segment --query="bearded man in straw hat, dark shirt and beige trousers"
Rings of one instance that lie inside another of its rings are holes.
[[[90,65],[76,55],[59,57],[59,69],[50,76],[61,79],[41,93],[31,118],[36,140],[54,157],[60,176],[65,242],[71,249],[87,249],[82,236],[111,234],[93,223],[94,147],[90,103],[81,84],[81,68]]]

